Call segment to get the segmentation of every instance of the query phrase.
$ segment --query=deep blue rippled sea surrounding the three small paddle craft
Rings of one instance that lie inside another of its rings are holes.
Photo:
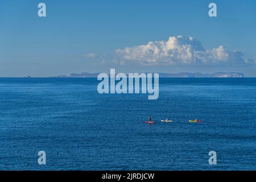
[[[0,78],[0,169],[256,169],[256,78],[160,78],[158,100],[99,94],[97,84]]]

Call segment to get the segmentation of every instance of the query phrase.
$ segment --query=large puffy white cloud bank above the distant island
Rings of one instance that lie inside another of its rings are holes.
[[[170,36],[167,41],[148,42],[147,45],[125,47],[114,51],[121,64],[142,65],[253,65],[256,59],[244,59],[241,51],[230,51],[224,46],[204,49],[192,37]]]

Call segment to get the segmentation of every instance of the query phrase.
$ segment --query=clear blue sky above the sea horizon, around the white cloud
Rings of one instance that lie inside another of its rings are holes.
[[[40,2],[47,6],[45,18],[38,17]],[[217,4],[217,17],[208,16],[210,2]],[[232,51],[241,51],[245,61],[255,59],[256,2],[253,0],[3,0],[0,23],[0,77],[109,72],[110,68],[116,68],[117,72],[237,71],[256,76],[255,64],[230,61],[237,55]],[[168,42],[170,36],[179,35],[199,40],[202,47],[209,50],[203,53],[204,59],[220,51],[217,49],[220,46],[225,46],[222,51],[228,52],[231,58],[227,58],[225,65],[213,64],[214,60],[205,64],[194,64],[197,60],[183,64],[181,60],[180,64],[177,52],[176,57],[168,55],[157,59],[148,54],[138,56],[125,52],[135,54],[141,49],[134,46]],[[116,54],[117,49],[121,50],[121,55]],[[167,64],[163,64],[163,59]],[[155,62],[142,64],[148,60]]]

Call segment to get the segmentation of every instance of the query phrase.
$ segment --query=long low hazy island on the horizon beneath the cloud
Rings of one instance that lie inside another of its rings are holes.
[[[97,78],[100,73],[71,73],[71,75],[54,76],[55,78]],[[216,73],[159,73],[164,78],[243,78],[243,73],[237,72],[216,72]]]

